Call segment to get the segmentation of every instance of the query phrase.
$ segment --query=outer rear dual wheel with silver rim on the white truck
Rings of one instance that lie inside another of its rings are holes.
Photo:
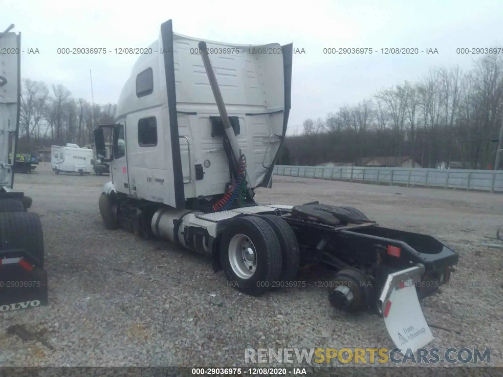
[[[230,285],[238,291],[247,295],[268,291],[281,274],[278,237],[259,217],[232,220],[222,234],[220,262]]]

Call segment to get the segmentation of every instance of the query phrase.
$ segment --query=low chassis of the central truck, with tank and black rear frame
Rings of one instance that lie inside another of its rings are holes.
[[[125,196],[118,198],[114,194],[111,197],[104,196],[113,198],[110,201],[110,213],[116,227],[121,226],[147,239],[152,236],[164,238],[211,256],[215,272],[225,271],[222,253],[227,251],[222,247],[221,240],[237,219],[253,217],[270,222],[268,218],[273,217],[276,223],[283,221],[294,235],[294,240],[290,240],[287,246],[282,240],[285,238],[284,232],[278,232],[274,224],[269,223],[280,240],[283,258],[294,258],[291,251],[285,248],[297,248],[298,261],[295,261],[296,267],[292,267],[296,268],[295,272],[304,266],[319,263],[333,268],[336,274],[333,283],[328,286],[330,295],[340,295],[335,289],[337,285],[349,285],[352,286],[354,300],[330,301],[338,309],[350,312],[375,309],[388,275],[412,266],[424,268],[421,280],[414,283],[418,297],[422,299],[435,294],[441,285],[449,281],[452,266],[458,262],[458,254],[434,237],[380,227],[350,207],[326,206],[315,202],[296,207],[250,205],[221,212],[180,212],[169,206]],[[328,220],[326,216],[317,218],[316,211],[319,209],[323,211],[321,216],[332,211],[335,217]],[[167,216],[168,220],[161,221],[163,216]],[[166,226],[170,229],[163,230]],[[283,261],[283,268],[290,268],[288,266],[290,264]],[[228,273],[226,275],[229,277]],[[290,274],[288,279],[294,280],[294,277],[294,274]],[[267,290],[267,287],[243,288],[239,286],[239,281],[235,282],[235,286],[248,294]]]

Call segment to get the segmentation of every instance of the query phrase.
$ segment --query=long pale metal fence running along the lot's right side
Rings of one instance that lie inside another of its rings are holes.
[[[425,169],[363,166],[276,165],[274,174],[407,187],[503,192],[503,170]]]

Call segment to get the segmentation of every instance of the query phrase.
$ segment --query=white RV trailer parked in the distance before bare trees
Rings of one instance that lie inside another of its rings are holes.
[[[51,167],[56,174],[61,171],[80,175],[90,174],[93,171],[91,164],[93,157],[92,149],[80,148],[77,144],[51,146]]]

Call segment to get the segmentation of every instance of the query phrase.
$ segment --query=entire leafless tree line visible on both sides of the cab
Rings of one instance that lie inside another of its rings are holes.
[[[93,129],[114,121],[116,105],[74,99],[63,85],[22,80],[20,153],[50,145],[93,142]],[[436,67],[418,82],[377,90],[357,105],[306,119],[288,136],[279,164],[352,162],[413,156],[423,167],[440,161],[471,168],[494,165],[503,121],[503,56],[486,55],[462,71]]]

